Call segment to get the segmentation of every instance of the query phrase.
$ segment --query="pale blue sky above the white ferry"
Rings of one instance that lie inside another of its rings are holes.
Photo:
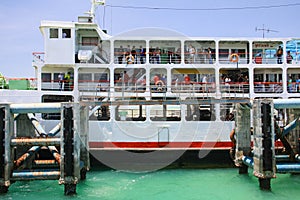
[[[43,52],[42,20],[77,21],[90,0],[1,0],[0,72],[34,77],[32,52]],[[153,9],[156,8],[156,9]],[[168,9],[162,9],[168,8]],[[110,35],[143,27],[196,37],[300,38],[300,0],[106,0],[96,20]]]

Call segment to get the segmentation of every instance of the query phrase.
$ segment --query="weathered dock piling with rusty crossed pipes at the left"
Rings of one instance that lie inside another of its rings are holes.
[[[90,168],[87,112],[78,103],[0,104],[0,193],[14,181],[48,179],[76,193]],[[39,114],[59,123],[47,133]]]

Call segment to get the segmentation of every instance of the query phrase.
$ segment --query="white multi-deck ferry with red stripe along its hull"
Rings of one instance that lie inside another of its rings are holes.
[[[0,78],[1,102],[88,105],[91,152],[159,151],[172,160],[186,150],[228,151],[235,102],[300,97],[299,38],[187,37],[155,28],[111,36],[95,22],[104,1],[91,3],[77,22],[41,22],[36,77]],[[60,119],[38,117],[47,131]],[[172,150],[182,151],[172,157]]]

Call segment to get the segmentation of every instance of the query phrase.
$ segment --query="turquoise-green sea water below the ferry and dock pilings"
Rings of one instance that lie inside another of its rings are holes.
[[[300,175],[277,174],[271,191],[259,189],[258,179],[240,175],[238,169],[165,169],[151,173],[126,173],[115,170],[91,170],[77,185],[77,194],[64,195],[57,180],[16,182],[0,199],[297,199]]]

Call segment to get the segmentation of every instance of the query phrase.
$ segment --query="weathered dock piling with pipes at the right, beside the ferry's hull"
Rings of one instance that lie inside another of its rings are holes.
[[[299,121],[299,99],[257,99],[251,108],[243,104],[237,104],[236,108],[235,164],[239,172],[248,173],[247,168],[253,168],[262,190],[271,189],[271,179],[276,178],[276,173],[300,173],[299,131],[293,130]],[[288,113],[286,126],[278,125],[275,111],[280,110]],[[253,134],[248,131],[251,121]]]

